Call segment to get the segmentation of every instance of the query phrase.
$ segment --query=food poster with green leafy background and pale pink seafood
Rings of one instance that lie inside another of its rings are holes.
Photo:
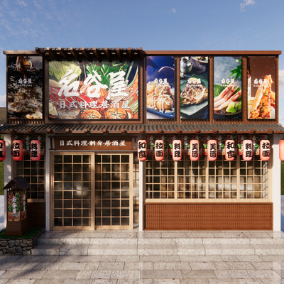
[[[241,57],[214,57],[214,119],[241,119]]]

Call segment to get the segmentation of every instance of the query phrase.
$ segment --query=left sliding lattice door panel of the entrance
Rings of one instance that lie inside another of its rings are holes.
[[[91,226],[91,175],[91,155],[54,155],[54,226]]]

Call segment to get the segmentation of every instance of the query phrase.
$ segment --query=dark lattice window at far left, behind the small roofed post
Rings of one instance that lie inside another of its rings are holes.
[[[23,155],[23,160],[14,161],[14,176],[23,177],[30,185],[28,199],[45,200],[45,155],[40,160],[31,160],[30,155]]]

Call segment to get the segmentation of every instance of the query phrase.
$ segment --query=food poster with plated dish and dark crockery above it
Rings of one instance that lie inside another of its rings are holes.
[[[208,119],[208,57],[180,58],[180,118]]]

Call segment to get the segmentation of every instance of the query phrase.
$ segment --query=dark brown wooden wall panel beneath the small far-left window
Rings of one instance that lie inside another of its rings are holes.
[[[27,217],[31,228],[45,228],[45,202],[28,202]]]

